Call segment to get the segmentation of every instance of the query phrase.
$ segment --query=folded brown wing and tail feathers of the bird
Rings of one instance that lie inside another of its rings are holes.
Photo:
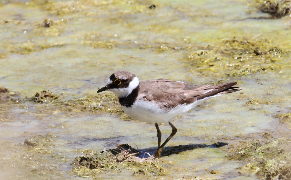
[[[140,82],[138,99],[156,101],[161,107],[173,108],[178,104],[192,103],[205,97],[235,92],[240,89],[231,87],[236,82],[219,85],[189,85],[167,79],[152,79]]]

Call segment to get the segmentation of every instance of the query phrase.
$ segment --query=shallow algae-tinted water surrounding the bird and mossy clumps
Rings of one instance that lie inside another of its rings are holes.
[[[152,4],[85,0],[1,3],[0,82],[19,100],[0,104],[0,179],[87,179],[71,172],[69,163],[76,156],[120,143],[138,149],[156,147],[153,124],[123,121],[114,113],[75,112],[25,100],[41,90],[60,95],[61,102],[95,95],[118,70],[133,72],[140,80],[238,81],[243,89],[175,118],[178,133],[167,144],[219,141],[229,145],[164,156],[160,163],[168,171],[146,178],[260,179],[255,170],[240,170],[248,161],[228,155],[233,146],[265,132],[289,138],[288,124],[275,116],[291,110],[290,19],[258,18],[268,15],[249,1],[160,1],[149,9],[147,5]],[[53,25],[42,27],[45,19],[51,19]],[[280,68],[247,76],[225,76],[224,72],[205,76],[187,61],[194,51],[233,37],[265,40],[268,46],[282,49]],[[246,106],[250,99],[256,101]],[[160,125],[160,129],[163,139],[171,133],[168,125]],[[38,135],[43,137],[41,147],[23,145],[26,138]],[[217,173],[210,173],[212,170]],[[100,172],[95,177],[145,178],[124,172],[122,176]]]

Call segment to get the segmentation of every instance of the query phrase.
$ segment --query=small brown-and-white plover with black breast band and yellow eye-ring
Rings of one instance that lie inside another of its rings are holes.
[[[119,99],[123,111],[135,120],[151,122],[157,129],[158,147],[155,157],[160,158],[163,147],[176,134],[177,128],[171,120],[203,103],[207,99],[241,90],[233,87],[237,82],[217,85],[189,85],[181,81],[151,79],[139,81],[128,71],[111,74],[107,84],[97,92],[113,92]],[[170,136],[162,143],[159,123],[169,124]]]

